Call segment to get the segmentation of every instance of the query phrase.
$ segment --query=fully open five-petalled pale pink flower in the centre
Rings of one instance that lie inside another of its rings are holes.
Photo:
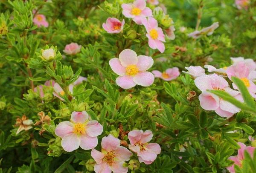
[[[116,84],[123,89],[129,89],[136,85],[150,86],[154,82],[154,75],[146,72],[153,65],[151,57],[137,56],[131,49],[125,49],[119,54],[119,58],[112,58],[109,65],[113,72],[119,75]]]

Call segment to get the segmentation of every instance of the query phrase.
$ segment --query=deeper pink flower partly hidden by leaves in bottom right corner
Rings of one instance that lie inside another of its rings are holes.
[[[253,152],[255,150],[254,147],[248,146],[246,147],[245,144],[238,142],[237,144],[240,145],[240,149],[238,150],[237,156],[230,156],[228,159],[234,161],[234,164],[230,167],[227,167],[227,170],[230,171],[230,173],[236,173],[235,172],[235,164],[238,165],[239,167],[242,166],[243,160],[244,160],[244,152],[247,151],[251,157],[253,157]]]

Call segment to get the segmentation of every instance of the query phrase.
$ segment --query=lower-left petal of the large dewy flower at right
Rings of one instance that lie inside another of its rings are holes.
[[[199,95],[200,105],[204,110],[216,110],[219,107],[219,98],[209,92],[202,92]]]

